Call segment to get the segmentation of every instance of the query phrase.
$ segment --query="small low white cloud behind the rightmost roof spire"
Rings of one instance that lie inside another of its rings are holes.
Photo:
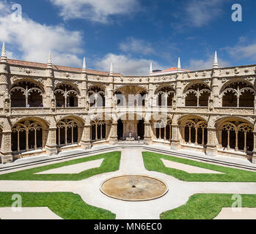
[[[189,61],[188,69],[195,70],[203,70],[203,69],[212,69],[213,68],[213,57],[209,57],[207,60],[202,59],[191,59]],[[224,61],[223,59],[218,59],[219,67],[230,67],[230,63],[228,61]]]

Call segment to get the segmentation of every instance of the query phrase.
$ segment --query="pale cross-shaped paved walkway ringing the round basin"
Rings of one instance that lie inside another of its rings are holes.
[[[100,184],[112,176],[139,174],[164,181],[164,197],[144,202],[115,200],[100,192]],[[120,170],[92,176],[83,181],[0,181],[0,192],[74,192],[89,205],[117,214],[117,219],[159,219],[163,211],[185,204],[196,193],[256,194],[256,183],[184,182],[163,173],[145,170],[142,150],[122,150]],[[231,199],[231,197],[230,197]]]

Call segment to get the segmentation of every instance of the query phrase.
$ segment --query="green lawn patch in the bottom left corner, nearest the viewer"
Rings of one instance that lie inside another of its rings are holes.
[[[115,219],[116,215],[84,203],[71,192],[0,192],[0,207],[11,207],[12,195],[22,198],[22,207],[48,207],[62,219]],[[0,216],[1,218],[1,216]]]

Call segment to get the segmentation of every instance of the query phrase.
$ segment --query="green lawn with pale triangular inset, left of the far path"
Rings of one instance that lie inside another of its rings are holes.
[[[0,175],[0,180],[12,180],[12,181],[80,181],[91,176],[95,176],[101,173],[109,173],[111,171],[119,170],[120,167],[120,151],[114,151],[106,154],[98,154],[95,156],[87,156],[81,159],[73,159],[67,162],[59,162],[53,165],[45,165],[42,167],[34,167],[32,169],[20,170],[15,173],[7,173]],[[45,174],[35,175],[34,173],[40,173],[45,170],[51,170],[58,167],[64,167],[68,165],[74,165],[81,162],[89,162],[92,160],[104,159],[101,166],[84,170],[77,174]]]

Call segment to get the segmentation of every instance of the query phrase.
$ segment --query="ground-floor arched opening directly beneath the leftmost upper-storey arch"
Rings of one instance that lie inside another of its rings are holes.
[[[12,127],[12,151],[43,148],[43,127],[36,121],[23,121]]]

